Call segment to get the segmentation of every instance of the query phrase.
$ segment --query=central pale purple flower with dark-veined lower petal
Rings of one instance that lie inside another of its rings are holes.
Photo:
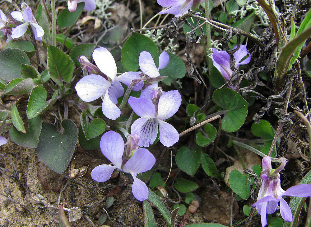
[[[156,92],[156,94],[158,94]],[[168,91],[151,101],[150,96],[135,98],[129,97],[128,104],[133,111],[141,118],[134,121],[131,126],[131,134],[140,135],[139,146],[149,147],[160,131],[160,142],[164,146],[172,146],[179,140],[177,130],[164,120],[173,116],[181,104],[181,95],[177,90]]]

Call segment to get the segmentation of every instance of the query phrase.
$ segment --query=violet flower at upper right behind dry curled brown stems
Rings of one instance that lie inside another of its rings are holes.
[[[237,46],[234,46],[233,49],[236,49]],[[248,57],[241,61],[246,55]],[[245,45],[240,45],[239,50],[237,50],[234,54],[235,64],[234,67],[236,69],[239,69],[240,65],[248,64],[251,60],[251,55],[247,52]],[[233,71],[230,68],[230,56],[229,54],[224,50],[216,50],[213,48],[213,54],[211,56],[213,65],[218,69],[218,71],[222,74],[222,76],[225,78],[225,81],[227,82],[230,80],[231,75],[233,74]],[[229,85],[229,87],[235,91],[237,91],[238,87],[237,85]]]

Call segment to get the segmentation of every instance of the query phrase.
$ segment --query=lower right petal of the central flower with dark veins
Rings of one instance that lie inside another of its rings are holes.
[[[167,122],[159,120],[160,142],[165,147],[173,146],[179,140],[177,130]]]

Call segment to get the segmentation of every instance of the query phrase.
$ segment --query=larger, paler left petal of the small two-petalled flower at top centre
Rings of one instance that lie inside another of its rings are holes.
[[[156,68],[156,64],[149,52],[142,51],[142,53],[139,54],[138,63],[142,72],[145,73],[147,76],[160,76],[159,70]]]

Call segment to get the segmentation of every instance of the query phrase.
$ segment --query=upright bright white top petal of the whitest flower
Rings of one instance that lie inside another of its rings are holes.
[[[114,81],[117,75],[117,65],[109,50],[104,47],[97,48],[94,50],[92,56],[100,71]]]

